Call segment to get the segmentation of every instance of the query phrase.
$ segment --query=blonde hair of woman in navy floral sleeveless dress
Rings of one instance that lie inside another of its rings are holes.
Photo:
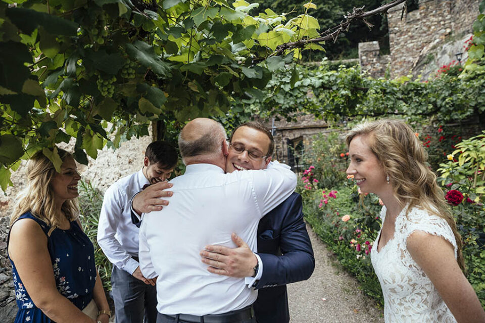
[[[72,155],[66,150],[57,148],[59,157],[64,162]],[[30,211],[33,216],[51,226],[48,235],[59,228],[62,217],[66,216],[69,222],[79,216],[77,198],[66,200],[59,211],[55,207],[52,180],[56,175],[52,161],[42,151],[36,152],[27,162],[27,186],[17,196],[17,202],[10,216],[10,225],[25,212]]]

